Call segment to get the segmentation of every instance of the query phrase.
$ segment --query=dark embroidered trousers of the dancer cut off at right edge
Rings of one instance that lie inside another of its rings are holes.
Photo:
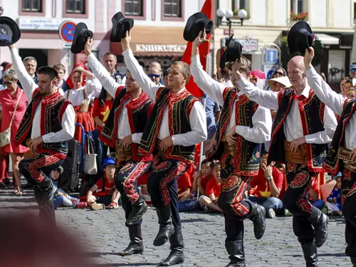
[[[345,252],[356,263],[356,172],[342,170],[341,195],[347,244]]]

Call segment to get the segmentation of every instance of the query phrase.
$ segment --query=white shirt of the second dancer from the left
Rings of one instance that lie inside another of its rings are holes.
[[[92,54],[90,54],[87,58],[88,64],[93,71],[95,77],[98,78],[103,88],[107,90],[107,92],[115,98],[116,90],[120,87],[120,84],[116,82],[114,78],[110,75],[108,70],[98,61],[97,58]],[[129,117],[127,116],[127,108],[126,105],[130,100],[127,100],[122,107],[122,110],[117,119],[117,138],[123,139],[124,137],[131,135]],[[132,134],[132,142],[135,144],[140,144],[142,137],[142,132],[135,132]]]

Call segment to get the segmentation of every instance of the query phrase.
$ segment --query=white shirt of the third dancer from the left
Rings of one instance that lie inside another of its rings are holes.
[[[133,56],[131,50],[122,52],[122,56],[124,56],[125,64],[128,70],[130,70],[132,77],[141,86],[142,90],[144,90],[153,101],[156,101],[156,94],[159,89],[159,85],[152,82],[152,80],[146,75],[145,71]],[[187,89],[183,88],[178,93],[182,93],[184,90]],[[208,136],[206,130],[206,115],[200,101],[196,101],[194,103],[189,114],[189,121],[192,131],[180,135],[172,135],[173,145],[188,147],[206,140],[206,137]],[[163,112],[163,118],[158,132],[158,139],[162,140],[164,137],[168,136],[170,135],[168,126],[168,107],[166,107]]]

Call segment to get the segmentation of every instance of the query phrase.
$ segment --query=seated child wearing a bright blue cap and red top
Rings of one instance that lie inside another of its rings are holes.
[[[118,209],[117,201],[120,198],[120,193],[115,189],[115,168],[116,162],[112,157],[107,157],[103,164],[104,177],[98,180],[87,193],[86,201],[88,206],[94,210]]]

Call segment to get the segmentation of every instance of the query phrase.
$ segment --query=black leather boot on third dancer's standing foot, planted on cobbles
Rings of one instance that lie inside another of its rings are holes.
[[[171,252],[164,261],[161,261],[158,264],[158,266],[172,266],[184,262],[182,226],[174,228],[174,234],[169,237],[169,243],[171,244]]]

